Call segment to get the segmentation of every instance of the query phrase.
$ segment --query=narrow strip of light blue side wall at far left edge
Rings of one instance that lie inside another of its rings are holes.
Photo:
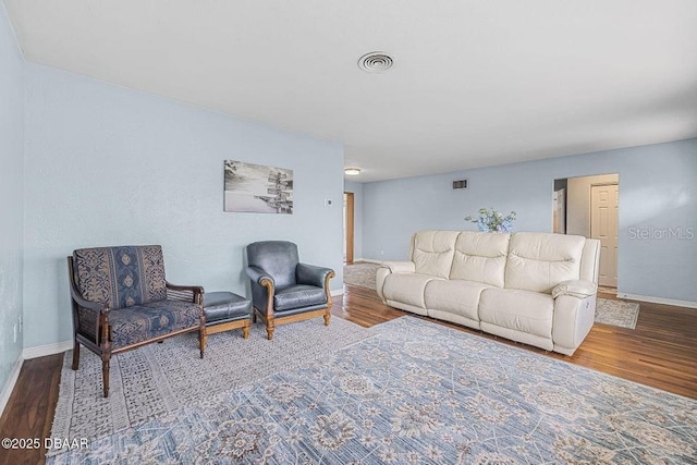
[[[22,352],[24,60],[0,3],[0,392]],[[14,329],[17,328],[16,342]]]

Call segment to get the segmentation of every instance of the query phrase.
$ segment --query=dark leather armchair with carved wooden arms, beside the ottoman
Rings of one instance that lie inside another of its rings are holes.
[[[329,326],[332,269],[301,264],[297,246],[285,241],[249,244],[247,265],[254,320],[266,323],[267,339],[273,339],[276,325],[321,316]]]

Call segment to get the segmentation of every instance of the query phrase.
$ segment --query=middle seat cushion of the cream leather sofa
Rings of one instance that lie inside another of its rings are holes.
[[[479,320],[479,296],[491,285],[463,280],[433,280],[426,284],[426,308]]]

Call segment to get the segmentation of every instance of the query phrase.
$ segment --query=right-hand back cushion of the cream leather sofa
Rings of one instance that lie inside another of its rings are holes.
[[[551,233],[514,233],[509,244],[505,287],[551,293],[557,284],[577,280],[586,238]]]

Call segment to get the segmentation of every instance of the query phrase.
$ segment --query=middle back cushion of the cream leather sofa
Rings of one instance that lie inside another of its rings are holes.
[[[510,234],[463,231],[455,241],[450,279],[503,287]]]

